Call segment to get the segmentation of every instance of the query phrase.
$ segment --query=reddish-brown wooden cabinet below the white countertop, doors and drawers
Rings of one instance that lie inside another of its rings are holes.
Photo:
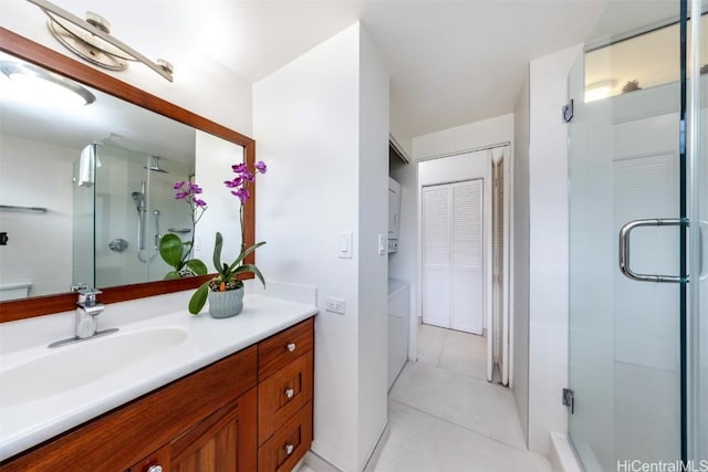
[[[310,318],[11,458],[0,471],[290,471],[312,442],[313,343]],[[259,378],[271,363],[281,368]],[[269,395],[285,401],[266,403]]]

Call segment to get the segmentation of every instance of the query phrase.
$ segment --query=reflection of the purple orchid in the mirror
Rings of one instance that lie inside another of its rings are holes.
[[[191,214],[191,240],[183,241],[177,234],[167,233],[159,241],[159,255],[168,265],[173,268],[167,272],[165,280],[180,279],[185,276],[206,275],[207,265],[199,259],[192,259],[191,252],[195,247],[195,231],[197,223],[207,211],[207,203],[198,196],[202,192],[201,187],[195,182],[184,180],[174,185],[175,199],[183,200],[189,206]]]

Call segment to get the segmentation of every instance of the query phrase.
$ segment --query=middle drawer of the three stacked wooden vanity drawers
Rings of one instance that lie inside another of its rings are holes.
[[[313,353],[310,350],[258,386],[258,443],[312,400]]]

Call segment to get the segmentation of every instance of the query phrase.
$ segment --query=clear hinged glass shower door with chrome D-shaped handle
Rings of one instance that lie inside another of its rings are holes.
[[[587,471],[681,459],[685,283],[620,270],[623,228],[636,274],[678,276],[685,256],[678,6],[611,4],[569,77],[569,433]]]

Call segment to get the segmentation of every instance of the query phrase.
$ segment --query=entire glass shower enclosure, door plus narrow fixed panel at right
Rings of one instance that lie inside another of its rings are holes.
[[[706,470],[705,7],[611,2],[569,77],[565,398],[587,471]]]

